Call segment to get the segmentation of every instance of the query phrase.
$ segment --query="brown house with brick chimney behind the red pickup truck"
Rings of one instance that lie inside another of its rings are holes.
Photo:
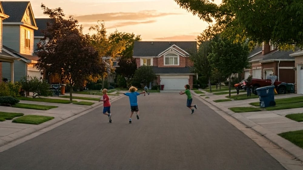
[[[249,75],[256,79],[267,79],[268,75],[277,75],[278,81],[286,83],[295,82],[295,59],[290,54],[293,50],[284,51],[264,44],[262,47],[257,47],[251,51],[249,55],[249,62],[251,68],[244,69],[247,79]]]

